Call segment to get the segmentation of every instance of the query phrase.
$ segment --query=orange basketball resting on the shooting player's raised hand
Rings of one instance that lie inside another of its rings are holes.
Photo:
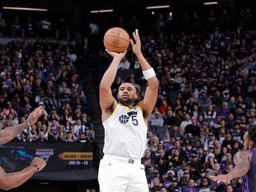
[[[130,44],[129,34],[119,27],[110,28],[104,35],[104,46],[112,52],[124,52]]]

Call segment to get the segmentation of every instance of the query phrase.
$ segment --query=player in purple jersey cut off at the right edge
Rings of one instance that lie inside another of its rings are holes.
[[[233,178],[242,176],[242,191],[254,192],[256,189],[256,120],[251,122],[244,134],[244,148],[235,154],[235,167],[226,175],[210,176],[217,182],[229,183]]]

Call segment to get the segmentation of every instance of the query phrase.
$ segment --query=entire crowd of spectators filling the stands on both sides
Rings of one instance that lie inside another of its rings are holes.
[[[197,13],[191,15],[182,17],[183,27],[202,21]],[[239,17],[227,10],[218,17],[209,12],[209,34],[195,28],[198,35],[188,35],[185,28],[176,36],[165,28],[172,19],[160,14],[153,36],[142,37],[142,52],[159,80],[142,158],[151,192],[242,192],[240,178],[226,185],[213,182],[209,175],[233,169],[242,136],[256,119],[256,38],[244,30],[251,27],[251,19],[249,9],[240,10]],[[0,32],[3,23],[0,16]],[[229,30],[228,24],[236,29]],[[129,26],[122,19],[118,25],[134,30],[140,22],[133,17]],[[89,42],[97,37],[89,37]],[[91,44],[92,52],[96,45]],[[89,54],[87,39],[84,47],[83,54]],[[97,55],[100,80],[111,58],[101,50]],[[43,105],[43,116],[16,141],[91,142],[93,124],[77,59],[72,43],[50,43],[47,38],[35,43],[17,38],[1,48],[0,129],[24,122],[34,107]],[[113,96],[125,81],[133,83],[143,99],[147,82],[131,50],[120,63]]]

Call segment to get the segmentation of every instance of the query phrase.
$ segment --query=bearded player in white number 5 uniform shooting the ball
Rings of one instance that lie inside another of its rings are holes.
[[[140,62],[148,87],[144,100],[134,106],[138,98],[131,83],[123,83],[118,89],[118,101],[114,99],[111,85],[118,65],[126,52],[107,52],[113,57],[109,69],[100,83],[101,119],[105,129],[103,159],[100,162],[98,181],[101,192],[145,192],[149,191],[144,165],[141,164],[147,137],[147,121],[156,103],[158,80],[155,71],[141,52],[138,30],[131,39],[133,52]]]

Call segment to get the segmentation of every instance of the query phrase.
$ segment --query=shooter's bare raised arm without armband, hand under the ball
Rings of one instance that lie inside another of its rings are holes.
[[[117,105],[117,101],[112,96],[111,85],[114,82],[114,78],[116,78],[119,63],[125,56],[127,50],[120,54],[110,52],[107,49],[106,51],[113,57],[113,60],[100,82],[100,107],[102,111],[111,111]]]

